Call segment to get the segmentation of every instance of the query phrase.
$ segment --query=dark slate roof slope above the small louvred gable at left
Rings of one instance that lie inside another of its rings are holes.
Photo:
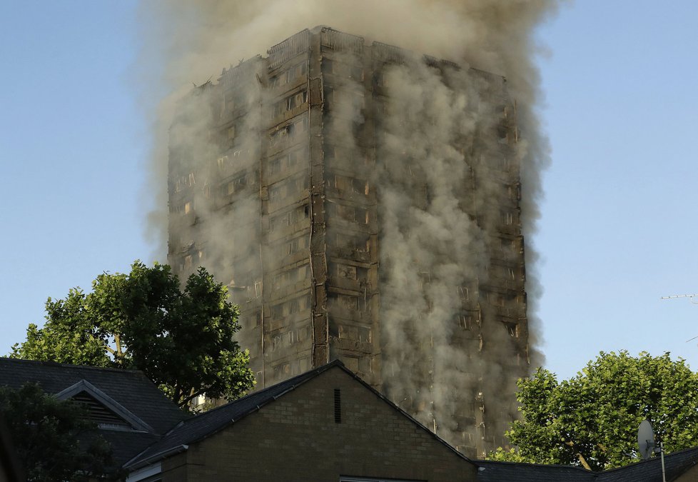
[[[158,434],[187,418],[141,371],[0,358],[0,386],[19,388],[31,381],[39,383],[46,393],[59,393],[82,380],[96,386]]]

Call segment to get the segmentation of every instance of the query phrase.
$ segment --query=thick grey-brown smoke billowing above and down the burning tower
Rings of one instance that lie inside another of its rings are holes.
[[[176,100],[191,89],[192,83],[201,85],[208,79],[215,80],[223,66],[250,59],[297,31],[325,24],[363,36],[367,42],[393,44],[505,76],[507,91],[517,106],[520,131],[515,155],[521,166],[522,226],[527,240],[528,336],[530,363],[537,366],[542,362],[536,349],[540,330],[535,314],[540,287],[530,241],[539,216],[540,175],[549,156],[535,112],[538,78],[533,30],[555,9],[553,0],[144,2],[144,24],[149,29],[145,33],[146,43],[151,48],[144,54],[141,66],[147,66],[144,68],[149,71],[149,79],[158,89],[172,93],[162,100],[155,123],[153,189],[158,190],[160,206],[166,206],[164,180],[171,137],[168,129]],[[263,89],[255,87],[258,82],[253,64],[246,74],[249,81],[241,83],[249,86],[241,101],[250,105],[264,95]],[[384,356],[390,360],[384,369],[392,375],[390,395],[399,402],[411,398],[405,403],[420,413],[425,423],[433,423],[442,431],[440,434],[457,444],[458,436],[475,436],[475,432],[457,433],[457,424],[450,417],[456,413],[454,405],[459,397],[453,393],[453,387],[468,387],[474,398],[484,397],[487,410],[515,410],[513,400],[498,397],[499,393],[512,393],[511,377],[502,373],[505,367],[500,363],[501,352],[514,353],[505,331],[483,328],[480,340],[475,341],[475,351],[483,343],[500,347],[483,351],[489,360],[482,368],[481,380],[470,379],[462,369],[472,363],[469,352],[449,343],[449,327],[461,306],[455,286],[469,286],[487,278],[488,253],[492,248],[482,227],[475,224],[458,201],[459,191],[470,175],[469,166],[488,148],[473,148],[466,153],[459,146],[474,143],[479,129],[493,125],[497,119],[481,107],[488,101],[483,97],[482,86],[478,87],[477,81],[463,73],[443,79],[425,64],[413,61],[391,69],[385,75],[385,86],[390,91],[388,115],[380,126],[381,140],[376,146],[383,166],[372,180],[380,186],[380,304],[381,323],[387,328],[382,344],[386,347]],[[340,114],[333,118],[331,129],[350,133],[354,124],[363,121],[360,106],[353,99],[336,99],[335,103]],[[202,114],[201,119],[209,119],[208,116],[210,113]],[[250,116],[243,131],[235,134],[238,139],[249,139],[243,143],[240,156],[255,158],[254,133],[259,124],[258,117]],[[176,137],[193,144],[206,139],[202,136],[204,126],[197,126],[196,121],[190,125],[191,132],[178,132]],[[200,152],[206,149],[205,145],[198,147]],[[414,169],[405,169],[406,165]],[[188,182],[196,183],[196,179]],[[418,184],[428,191],[428,201],[415,202],[408,194]],[[197,186],[198,196],[206,196],[206,189]],[[488,189],[494,192],[499,188],[483,181],[479,187],[482,195],[472,200],[476,210],[487,210]],[[226,259],[216,257],[216,253],[230,252],[231,243],[241,249],[258,243],[258,204],[251,201],[238,204],[235,209],[238,226],[233,231],[239,233],[236,239],[230,239],[231,226],[213,223],[207,228],[211,236],[205,248],[206,264],[214,272],[218,271],[216,265],[225,272]],[[155,213],[153,220],[158,219],[166,219],[166,214]],[[162,229],[164,244],[167,224],[156,221],[156,225]],[[225,247],[218,249],[216,243]],[[420,276],[413,276],[415,265]],[[231,281],[236,286],[249,282]],[[241,342],[244,344],[245,340]],[[429,373],[430,381],[425,383],[414,373],[420,372],[418,366],[427,365],[433,366],[433,373]],[[491,430],[503,433],[505,428],[497,426]]]

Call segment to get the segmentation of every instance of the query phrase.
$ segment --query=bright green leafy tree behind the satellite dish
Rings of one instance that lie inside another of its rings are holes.
[[[669,353],[629,356],[601,352],[577,376],[558,382],[538,368],[518,381],[521,419],[507,432],[516,451],[490,458],[605,470],[639,460],[637,428],[643,419],[664,450],[698,441],[698,374]]]

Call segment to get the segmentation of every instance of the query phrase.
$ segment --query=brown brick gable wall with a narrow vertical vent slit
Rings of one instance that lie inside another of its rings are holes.
[[[335,421],[340,390],[340,423]],[[163,481],[475,481],[477,468],[340,368],[163,462]]]

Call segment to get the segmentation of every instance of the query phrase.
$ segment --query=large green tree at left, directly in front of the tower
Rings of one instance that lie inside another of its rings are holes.
[[[46,323],[30,324],[11,357],[117,368],[137,368],[179,406],[203,395],[242,396],[254,385],[249,353],[233,336],[238,308],[206,269],[183,291],[167,265],[140,261],[131,273],[103,273],[91,293],[71,289],[46,301]]]

